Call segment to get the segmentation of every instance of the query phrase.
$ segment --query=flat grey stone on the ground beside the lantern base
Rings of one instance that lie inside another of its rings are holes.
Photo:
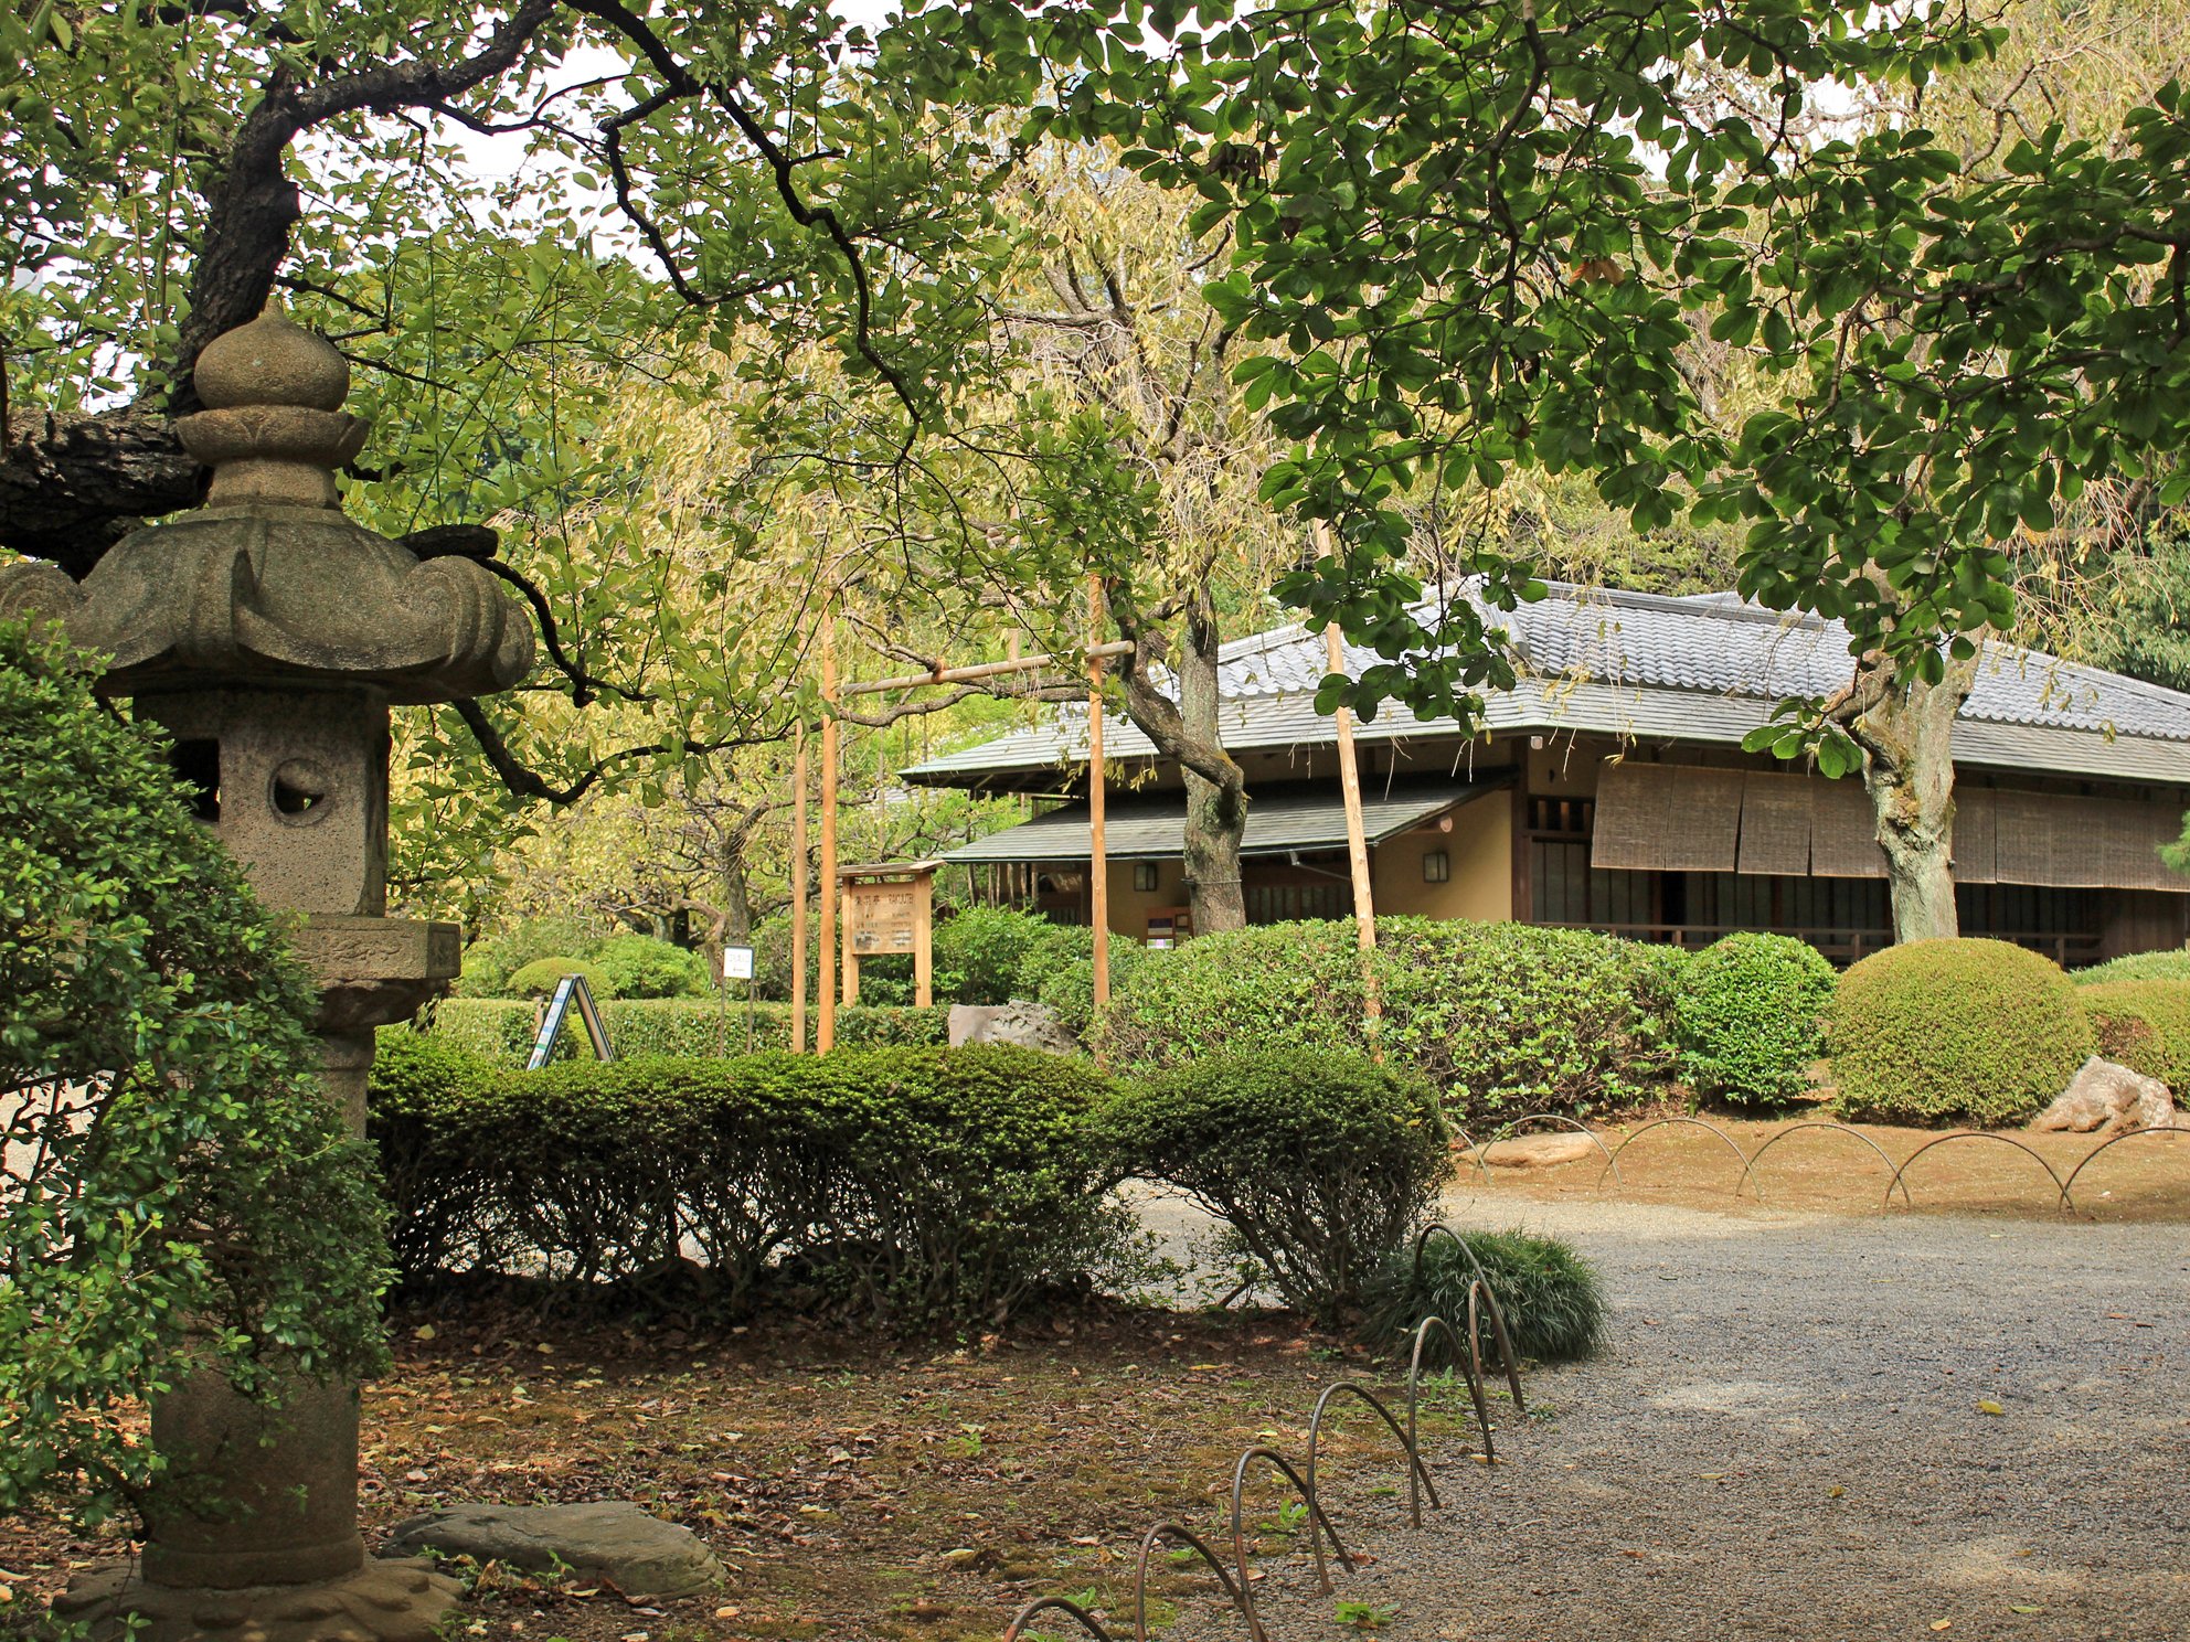
[[[690,1528],[624,1500],[561,1506],[449,1506],[399,1522],[390,1552],[438,1550],[548,1574],[567,1568],[633,1600],[694,1596],[723,1583],[723,1563]]]

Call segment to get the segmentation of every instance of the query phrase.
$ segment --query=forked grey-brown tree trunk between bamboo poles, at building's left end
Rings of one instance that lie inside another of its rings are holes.
[[[1161,639],[1143,633],[1132,613],[1119,631],[1134,641],[1121,659],[1126,714],[1156,751],[1178,762],[1187,779],[1187,898],[1194,930],[1209,935],[1246,926],[1246,889],[1240,882],[1240,841],[1246,836],[1246,773],[1224,751],[1218,725],[1218,631],[1207,589],[1187,602],[1187,641],[1176,663],[1178,705],[1150,683]]]

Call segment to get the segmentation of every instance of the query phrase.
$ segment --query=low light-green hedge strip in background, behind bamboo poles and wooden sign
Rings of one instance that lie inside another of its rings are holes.
[[[523,1066],[532,1053],[537,1009],[517,998],[445,998],[434,1009],[431,1036],[453,1049],[497,1064]],[[729,998],[609,998],[600,1005],[609,1027],[609,1044],[620,1060],[648,1055],[742,1055],[745,1003]],[[942,1044],[950,1011],[913,1007],[867,1007],[837,1011],[837,1042],[845,1049],[880,1049],[891,1044]],[[806,1022],[812,1036],[812,1009]],[[556,1060],[580,1053],[585,1033],[572,1022],[556,1047]],[[753,1047],[791,1047],[791,1005],[753,1005]]]

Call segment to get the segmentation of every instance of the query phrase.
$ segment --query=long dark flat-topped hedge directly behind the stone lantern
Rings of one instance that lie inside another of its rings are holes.
[[[1128,1246],[1106,1084],[1025,1049],[887,1049],[499,1071],[381,1033],[370,1134],[410,1281],[683,1270],[889,1322],[988,1322]]]

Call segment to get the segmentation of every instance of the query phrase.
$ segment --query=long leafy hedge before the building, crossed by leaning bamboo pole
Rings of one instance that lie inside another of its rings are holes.
[[[1463,1123],[1614,1112],[1664,1092],[1671,948],[1586,930],[1380,917],[1382,1049]],[[1123,1066],[1240,1049],[1369,1047],[1349,922],[1200,935],[1123,970],[1099,1025]]]

